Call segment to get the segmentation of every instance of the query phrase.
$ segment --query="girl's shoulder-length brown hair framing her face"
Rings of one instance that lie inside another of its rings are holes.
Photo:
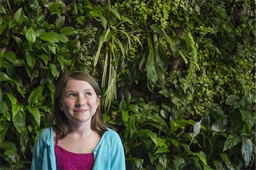
[[[101,96],[101,90],[98,86],[98,83],[92,76],[88,73],[84,73],[82,71],[74,71],[72,73],[66,73],[60,77],[57,86],[55,88],[55,96],[52,106],[52,112],[49,116],[49,123],[52,126],[53,130],[57,134],[57,139],[63,139],[68,135],[68,121],[67,116],[60,111],[60,100],[62,92],[68,82],[68,80],[76,79],[88,82],[90,86],[93,87],[94,91],[96,92],[97,96]],[[54,125],[54,122],[56,125]],[[98,135],[102,136],[102,134],[106,131],[106,125],[101,118],[101,101],[98,105],[98,109],[96,113],[92,117],[92,124],[91,128],[95,131]]]

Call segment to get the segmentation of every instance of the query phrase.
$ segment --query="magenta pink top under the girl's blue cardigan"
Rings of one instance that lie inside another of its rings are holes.
[[[92,169],[93,154],[76,154],[58,146],[58,140],[54,146],[57,169]]]

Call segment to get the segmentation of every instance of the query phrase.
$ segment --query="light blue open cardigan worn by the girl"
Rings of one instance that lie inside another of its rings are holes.
[[[93,150],[93,158],[93,169],[126,169],[122,141],[114,130],[107,128]],[[39,135],[31,169],[56,169],[52,128],[43,130]]]

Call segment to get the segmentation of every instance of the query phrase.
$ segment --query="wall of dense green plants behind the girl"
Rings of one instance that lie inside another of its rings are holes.
[[[30,168],[72,70],[127,169],[255,169],[255,36],[253,0],[0,0],[1,169]]]

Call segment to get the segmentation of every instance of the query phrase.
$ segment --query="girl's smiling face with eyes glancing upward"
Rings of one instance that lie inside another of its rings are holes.
[[[61,111],[64,111],[68,122],[92,122],[100,104],[93,87],[88,82],[71,79],[67,82],[61,96]]]

